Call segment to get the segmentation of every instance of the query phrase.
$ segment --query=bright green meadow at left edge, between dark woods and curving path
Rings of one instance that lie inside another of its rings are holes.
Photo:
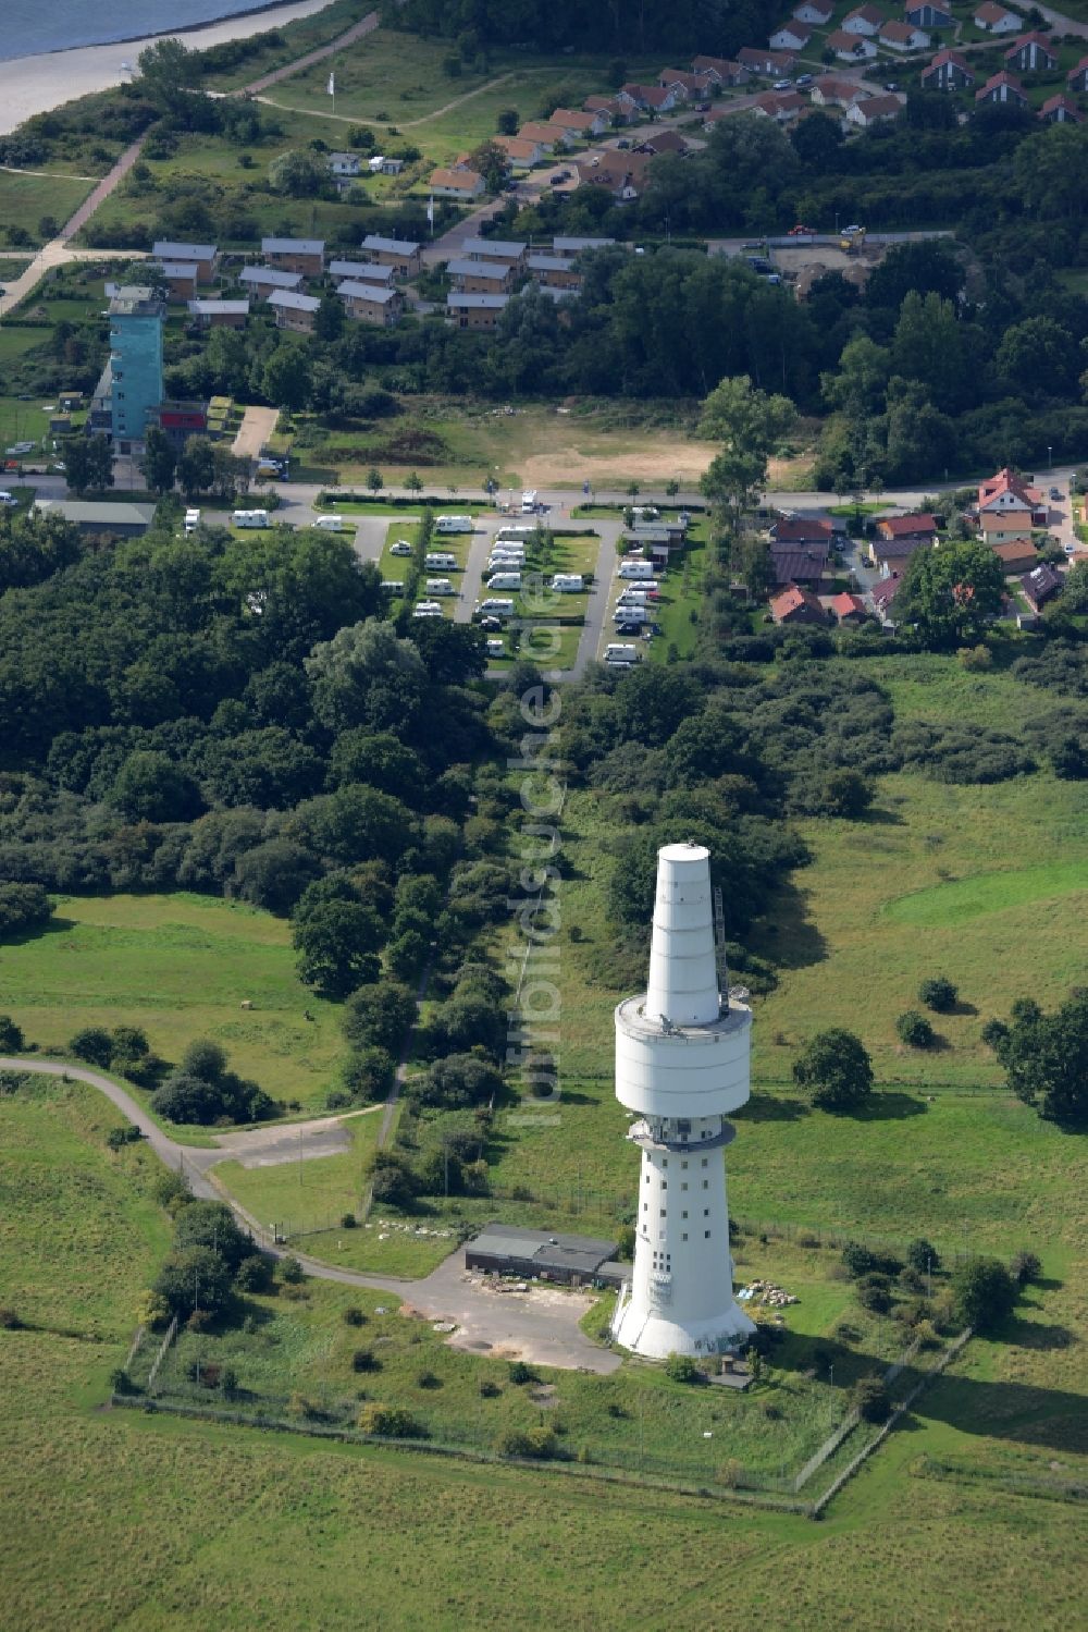
[[[299,981],[289,925],[238,901],[64,896],[46,934],[3,947],[0,986],[28,1040],[46,1048],[126,1020],[170,1061],[215,1038],[237,1071],[308,1110],[323,1108],[333,1084],[338,1010]]]

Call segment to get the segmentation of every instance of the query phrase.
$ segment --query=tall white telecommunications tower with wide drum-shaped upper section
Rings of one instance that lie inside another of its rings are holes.
[[[729,999],[713,907],[710,854],[664,845],[649,987],[615,1012],[617,1098],[638,1116],[643,1170],[612,1335],[652,1358],[713,1355],[755,1330],[732,1296],[723,1155],[736,1134],[724,1113],[749,1097],[752,1012]]]

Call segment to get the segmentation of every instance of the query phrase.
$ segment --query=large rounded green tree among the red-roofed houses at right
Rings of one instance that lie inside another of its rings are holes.
[[[1002,610],[1002,563],[984,543],[915,550],[896,596],[896,619],[913,623],[925,646],[953,650],[982,638]]]

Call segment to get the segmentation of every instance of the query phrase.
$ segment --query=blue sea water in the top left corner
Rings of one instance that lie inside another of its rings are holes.
[[[264,0],[0,0],[0,62],[104,46],[256,11]],[[269,28],[272,23],[269,23]]]

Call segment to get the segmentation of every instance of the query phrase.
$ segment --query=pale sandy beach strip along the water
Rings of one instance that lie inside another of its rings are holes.
[[[292,5],[268,11],[251,11],[248,16],[228,16],[207,28],[184,29],[176,38],[192,51],[219,46],[223,39],[248,39],[299,16],[321,11],[328,0],[295,0]],[[0,135],[15,131],[33,113],[46,113],[75,96],[103,91],[127,78],[122,62],[135,62],[140,51],[155,39],[170,34],[150,34],[147,39],[119,42],[116,46],[78,46],[75,51],[51,51],[41,57],[15,57],[0,62]]]

